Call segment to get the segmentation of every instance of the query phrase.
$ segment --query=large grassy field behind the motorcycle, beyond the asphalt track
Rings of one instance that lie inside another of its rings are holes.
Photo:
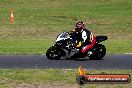
[[[55,37],[73,30],[78,20],[95,35],[110,37],[104,43],[108,53],[131,53],[131,4],[131,0],[1,0],[0,54],[45,53]],[[11,9],[15,16],[12,25]]]

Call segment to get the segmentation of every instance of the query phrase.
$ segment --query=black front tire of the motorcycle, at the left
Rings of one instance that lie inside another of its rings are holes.
[[[61,49],[55,48],[54,46],[51,46],[47,52],[46,56],[50,60],[59,60],[62,56],[64,56],[64,51]]]

